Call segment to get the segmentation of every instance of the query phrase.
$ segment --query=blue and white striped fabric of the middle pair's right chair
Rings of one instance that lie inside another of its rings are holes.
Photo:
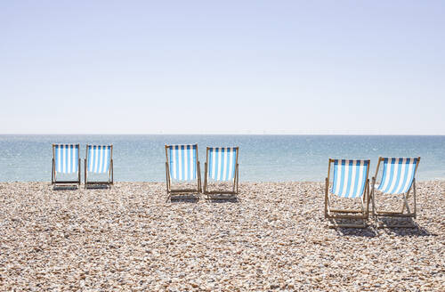
[[[237,148],[212,147],[208,149],[207,175],[215,181],[230,181],[235,177]]]

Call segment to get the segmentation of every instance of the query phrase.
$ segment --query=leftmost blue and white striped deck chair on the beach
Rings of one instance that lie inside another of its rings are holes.
[[[76,174],[77,180],[57,180],[57,174]],[[54,185],[80,185],[79,144],[53,144],[53,170],[51,183]]]

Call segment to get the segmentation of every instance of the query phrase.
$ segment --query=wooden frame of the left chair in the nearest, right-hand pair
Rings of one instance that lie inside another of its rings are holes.
[[[325,219],[329,220],[335,220],[335,219],[358,219],[361,220],[361,224],[356,223],[332,223],[328,226],[330,228],[366,228],[368,215],[369,215],[369,179],[368,179],[368,173],[369,173],[369,164],[370,160],[368,161],[368,169],[366,172],[366,183],[365,188],[363,190],[363,195],[360,197],[360,209],[333,209],[331,208],[331,201],[330,201],[330,194],[329,191],[329,178],[330,178],[330,169],[331,169],[331,163],[333,163],[335,160],[329,158],[329,165],[328,165],[328,177],[325,180]],[[366,205],[366,206],[365,206]]]

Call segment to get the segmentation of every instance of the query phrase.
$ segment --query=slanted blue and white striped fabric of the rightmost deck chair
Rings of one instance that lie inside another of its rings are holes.
[[[417,158],[384,158],[382,182],[378,191],[402,194],[409,191],[416,173]]]

